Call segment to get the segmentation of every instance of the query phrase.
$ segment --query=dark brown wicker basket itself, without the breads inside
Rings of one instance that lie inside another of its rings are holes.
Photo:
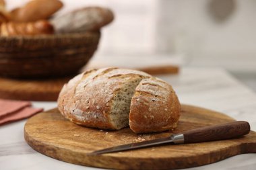
[[[0,37],[0,76],[73,75],[90,60],[99,40],[100,32]]]

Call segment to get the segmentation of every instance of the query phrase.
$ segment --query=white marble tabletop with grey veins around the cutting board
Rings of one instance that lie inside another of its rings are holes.
[[[256,94],[222,69],[185,68],[180,75],[162,75],[177,91],[182,103],[224,112],[236,120],[246,120],[256,130]],[[33,102],[45,110],[55,102]],[[26,120],[0,126],[0,169],[96,169],[57,161],[34,151],[24,141]],[[192,169],[255,169],[256,154],[231,157]]]

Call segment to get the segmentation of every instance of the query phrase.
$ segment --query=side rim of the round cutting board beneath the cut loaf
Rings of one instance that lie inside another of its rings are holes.
[[[193,107],[193,108],[199,108],[191,105],[187,105],[187,106]],[[52,110],[56,111],[56,109],[52,109]],[[46,112],[51,112],[51,110]],[[187,163],[183,165],[180,165],[178,161],[181,158],[152,159],[150,162],[148,161],[148,159],[137,158],[137,157],[131,158],[131,159],[126,158],[125,160],[123,160],[122,157],[115,157],[115,154],[118,154],[118,153],[97,156],[97,161],[95,161],[95,158],[93,156],[86,157],[85,156],[86,153],[74,153],[73,155],[70,155],[69,150],[67,148],[56,149],[56,148],[53,148],[51,144],[40,142],[36,140],[36,138],[31,138],[26,130],[26,124],[24,127],[24,138],[26,142],[32,148],[34,148],[35,151],[38,151],[43,155],[53,157],[54,159],[58,159],[60,161],[74,163],[77,165],[85,165],[89,167],[101,167],[101,168],[110,168],[110,169],[158,169],[159,165],[161,165],[161,169],[181,169],[181,168],[188,168],[188,167],[198,167],[198,166],[207,165],[210,163],[216,163],[228,157],[240,155],[243,153],[256,153],[256,146],[255,146],[256,144],[252,142],[247,142],[247,143],[241,143],[241,144],[236,144],[235,146],[232,146],[232,148],[229,148],[230,151],[232,151],[230,153],[227,153],[226,148],[223,148],[221,151],[214,151],[210,154],[208,153],[201,154],[200,157],[202,159],[200,159],[200,163],[198,162],[198,159],[196,159],[195,157],[183,157],[182,159],[185,159],[185,161],[183,162]],[[256,138],[256,133],[253,131],[250,132],[250,134],[251,133],[253,133],[252,135],[254,136],[254,138]],[[251,148],[255,148],[255,149],[251,150]],[[60,155],[67,155],[66,153],[69,153],[69,157],[63,158],[60,156]],[[140,163],[136,164],[134,161],[135,159],[136,160],[139,159]],[[131,164],[131,162],[134,162],[134,163]]]

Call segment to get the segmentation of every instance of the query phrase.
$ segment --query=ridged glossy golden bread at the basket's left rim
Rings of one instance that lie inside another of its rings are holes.
[[[1,24],[1,36],[25,36],[25,35],[40,35],[53,34],[53,26],[46,20],[38,22],[6,22]]]

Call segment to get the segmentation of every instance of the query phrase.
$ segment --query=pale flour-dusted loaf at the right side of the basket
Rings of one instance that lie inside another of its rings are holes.
[[[104,7],[85,7],[53,18],[51,23],[57,33],[86,32],[99,30],[114,19],[110,9]]]

